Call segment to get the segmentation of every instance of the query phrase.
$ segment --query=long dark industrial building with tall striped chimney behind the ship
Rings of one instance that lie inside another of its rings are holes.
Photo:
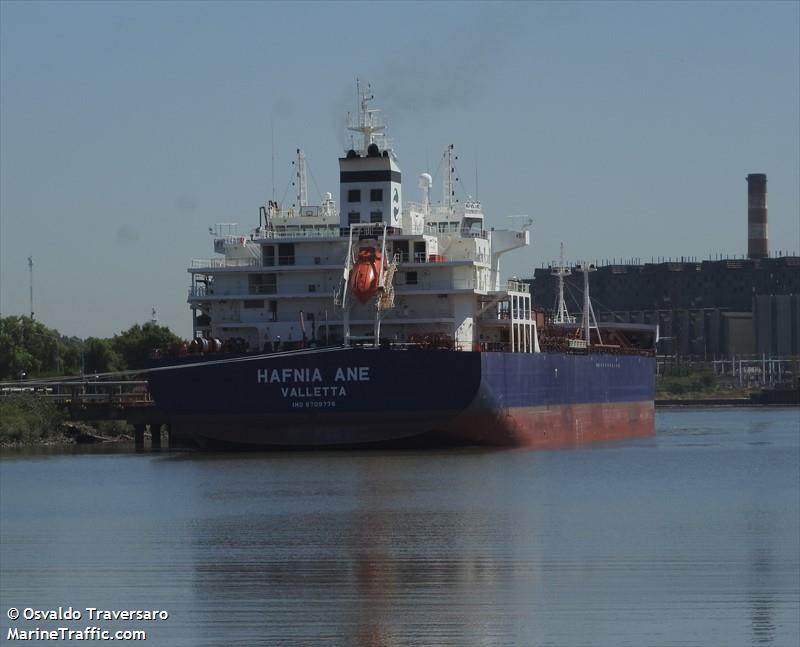
[[[747,176],[748,258],[606,264],[591,274],[598,321],[658,324],[666,355],[715,359],[800,354],[800,256],[769,257],[766,175]],[[552,311],[552,267],[534,272],[534,307]],[[582,279],[565,278],[573,313]]]

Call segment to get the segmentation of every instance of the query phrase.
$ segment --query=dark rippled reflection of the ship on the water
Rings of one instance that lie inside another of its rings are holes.
[[[310,478],[294,489],[298,458]],[[265,507],[248,520],[195,527],[198,601],[225,590],[249,599],[243,623],[263,623],[251,624],[252,639],[266,630],[267,642],[281,645],[501,639],[512,628],[493,607],[513,579],[516,524],[508,511],[462,506],[485,501],[480,490],[491,484],[470,466],[493,458],[474,451],[287,457],[273,465],[284,500],[277,510],[265,492]],[[443,473],[449,491],[440,489]]]

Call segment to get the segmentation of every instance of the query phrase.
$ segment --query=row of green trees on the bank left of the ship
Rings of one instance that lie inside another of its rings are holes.
[[[69,337],[30,317],[0,317],[0,380],[145,368],[150,353],[182,343],[168,327],[134,324],[110,338]]]

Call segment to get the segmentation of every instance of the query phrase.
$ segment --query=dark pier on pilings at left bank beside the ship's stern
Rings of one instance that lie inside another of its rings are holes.
[[[144,380],[103,380],[85,376],[0,382],[0,398],[20,395],[52,402],[74,422],[127,422],[133,426],[137,449],[144,447],[148,427],[153,449],[162,446],[162,428],[166,428],[168,447],[182,446],[171,438],[169,419],[150,397]]]

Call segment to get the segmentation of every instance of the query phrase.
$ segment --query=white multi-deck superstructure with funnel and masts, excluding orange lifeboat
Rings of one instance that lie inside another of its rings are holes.
[[[359,97],[348,127],[362,145],[339,160],[338,209],[330,193],[305,204],[298,150],[298,206],[270,202],[248,233],[217,225],[219,256],[192,261],[194,336],[251,351],[382,341],[538,352],[528,286],[500,278],[500,257],[530,243],[527,226],[487,229],[480,202],[453,200],[449,163],[441,205],[431,204],[427,173],[421,201],[404,202],[380,111],[368,91]],[[362,302],[348,291],[365,245],[380,260],[374,296]]]

